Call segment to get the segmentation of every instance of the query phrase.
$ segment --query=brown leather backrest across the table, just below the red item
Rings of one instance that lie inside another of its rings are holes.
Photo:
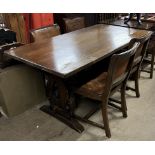
[[[42,41],[46,38],[51,38],[60,34],[60,27],[58,25],[52,25],[48,27],[42,27],[30,31],[31,42]]]

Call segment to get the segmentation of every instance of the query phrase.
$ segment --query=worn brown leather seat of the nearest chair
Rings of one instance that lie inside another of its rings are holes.
[[[100,100],[105,89],[106,78],[107,72],[103,72],[97,78],[81,86],[76,93],[85,97]]]

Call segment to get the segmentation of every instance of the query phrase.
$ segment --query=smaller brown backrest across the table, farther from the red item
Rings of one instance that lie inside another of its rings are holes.
[[[63,18],[65,32],[79,30],[85,27],[84,17]]]

